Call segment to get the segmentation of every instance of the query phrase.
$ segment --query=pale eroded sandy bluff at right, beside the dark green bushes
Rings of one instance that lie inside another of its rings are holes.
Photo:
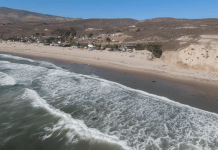
[[[167,65],[203,72],[218,72],[218,36],[202,35],[196,44],[176,52],[165,52]]]

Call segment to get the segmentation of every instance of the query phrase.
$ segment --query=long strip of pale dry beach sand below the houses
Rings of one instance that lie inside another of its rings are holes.
[[[44,46],[43,44],[36,43],[2,42],[0,43],[0,52],[62,60],[128,72],[129,74],[137,74],[141,77],[145,75],[156,76],[162,80],[170,80],[178,84],[186,83],[213,97],[217,96],[218,73],[178,68],[173,63],[169,64],[168,61],[159,58],[149,60],[150,52],[147,50],[111,52],[107,50]],[[165,59],[168,53],[163,53]]]

